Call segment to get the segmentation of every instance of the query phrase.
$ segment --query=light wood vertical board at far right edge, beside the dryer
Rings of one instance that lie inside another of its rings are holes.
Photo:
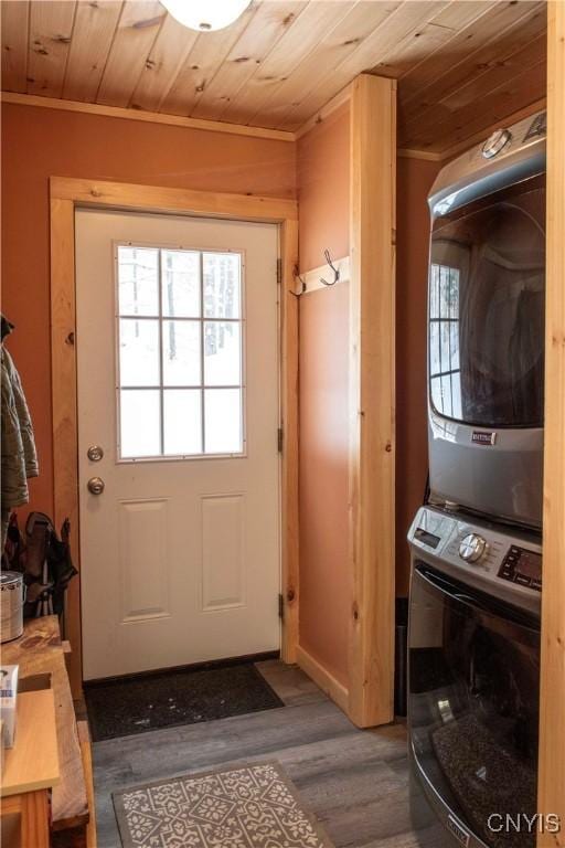
[[[539,848],[565,846],[565,2],[548,3],[547,266],[545,455],[539,810],[561,833]]]

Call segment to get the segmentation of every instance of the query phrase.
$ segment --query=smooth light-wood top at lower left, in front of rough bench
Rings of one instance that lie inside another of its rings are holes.
[[[22,692],[18,696],[14,745],[4,751],[0,796],[45,789],[60,780],[53,690]]]

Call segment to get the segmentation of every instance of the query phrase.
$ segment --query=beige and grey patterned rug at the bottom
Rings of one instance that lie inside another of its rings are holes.
[[[124,848],[333,848],[275,762],[114,793]]]

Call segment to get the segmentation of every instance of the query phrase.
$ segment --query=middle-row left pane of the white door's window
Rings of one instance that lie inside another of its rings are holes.
[[[120,385],[159,385],[159,321],[121,318],[119,322]]]

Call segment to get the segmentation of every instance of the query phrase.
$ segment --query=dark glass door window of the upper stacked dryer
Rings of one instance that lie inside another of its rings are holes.
[[[434,224],[429,395],[440,415],[486,427],[543,424],[545,178]]]

